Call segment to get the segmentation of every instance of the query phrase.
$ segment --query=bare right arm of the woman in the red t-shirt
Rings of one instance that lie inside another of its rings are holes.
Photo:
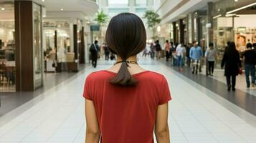
[[[170,133],[168,126],[168,103],[158,105],[156,112],[156,140],[158,143],[169,143]]]

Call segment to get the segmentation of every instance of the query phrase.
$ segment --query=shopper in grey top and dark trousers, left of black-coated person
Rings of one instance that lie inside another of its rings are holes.
[[[214,62],[217,60],[217,51],[214,49],[214,44],[210,43],[209,48],[205,52],[205,57],[208,63],[207,75],[213,76],[214,73]]]

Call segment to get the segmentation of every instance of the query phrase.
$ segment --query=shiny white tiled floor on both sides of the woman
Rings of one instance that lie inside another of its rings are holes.
[[[181,79],[162,64],[151,64],[149,59],[141,63],[145,69],[158,71],[168,79],[173,97],[169,106],[171,142],[255,143],[256,128],[209,97],[209,90],[192,86],[194,82]],[[28,103],[32,105],[27,111],[0,127],[0,142],[84,142],[84,79],[91,71],[108,67],[101,63],[97,69],[89,69],[40,95],[41,102]],[[4,117],[0,122],[1,119]]]

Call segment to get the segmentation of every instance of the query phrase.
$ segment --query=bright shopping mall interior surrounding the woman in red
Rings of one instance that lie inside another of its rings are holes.
[[[105,57],[105,33],[123,12],[146,27],[138,64],[169,83],[171,142],[256,142],[256,85],[248,87],[243,56],[248,43],[256,49],[255,0],[0,0],[0,143],[85,142],[85,79],[115,64],[115,54]],[[90,54],[95,40],[96,68]],[[156,40],[161,51],[151,49]],[[166,40],[174,45],[171,54]],[[199,74],[192,74],[190,57],[182,70],[177,66],[175,49],[194,41],[202,51],[214,45],[210,76],[207,54]],[[227,90],[222,67],[230,41],[242,62],[235,91]]]

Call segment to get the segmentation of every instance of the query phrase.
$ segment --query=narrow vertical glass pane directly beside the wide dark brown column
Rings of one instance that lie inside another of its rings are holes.
[[[34,88],[42,86],[42,12],[41,6],[33,4],[34,14]]]

